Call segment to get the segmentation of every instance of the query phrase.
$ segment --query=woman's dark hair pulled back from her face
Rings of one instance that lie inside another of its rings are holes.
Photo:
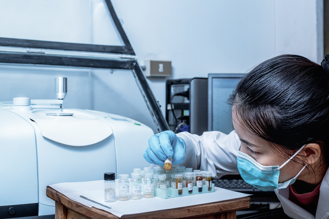
[[[241,78],[228,101],[256,136],[291,152],[318,143],[329,163],[329,73],[321,65],[299,55],[268,59]]]

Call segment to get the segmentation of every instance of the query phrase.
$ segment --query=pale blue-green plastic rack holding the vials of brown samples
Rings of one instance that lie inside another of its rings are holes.
[[[203,185],[202,186],[202,192],[199,192],[199,187],[193,186],[192,193],[189,193],[189,188],[183,188],[183,194],[178,195],[178,188],[167,188],[167,189],[160,189],[155,188],[154,189],[154,196],[167,199],[167,198],[176,198],[176,197],[182,197],[182,196],[188,196],[188,195],[198,195],[202,193],[210,193],[215,191],[215,184],[211,184],[211,191],[208,191],[208,186]]]

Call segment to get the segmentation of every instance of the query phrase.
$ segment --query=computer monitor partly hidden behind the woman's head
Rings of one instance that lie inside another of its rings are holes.
[[[208,131],[229,134],[233,130],[232,107],[227,104],[244,74],[208,74]]]

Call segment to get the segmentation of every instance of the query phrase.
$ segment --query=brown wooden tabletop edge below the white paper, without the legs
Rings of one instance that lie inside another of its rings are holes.
[[[86,215],[87,217],[90,215],[90,218],[101,219],[105,216],[108,218],[119,218],[114,214],[94,207],[88,207],[80,202],[72,200],[62,193],[58,192],[54,188],[47,186],[46,195],[54,200],[55,202],[60,203],[65,208],[71,209],[79,214]],[[218,204],[221,204],[218,206]],[[239,207],[238,207],[239,206]],[[224,212],[236,211],[244,208],[250,207],[250,197],[242,197],[236,199],[230,199],[226,201],[218,201],[205,203],[200,205],[194,205],[192,208],[190,206],[180,207],[180,208],[172,208],[172,209],[164,209],[158,211],[150,211],[143,212],[138,214],[125,214],[122,215],[121,218],[164,218],[164,213],[166,214],[165,218],[184,218],[190,216],[203,216],[204,213],[200,213],[207,209],[207,214],[219,214]]]

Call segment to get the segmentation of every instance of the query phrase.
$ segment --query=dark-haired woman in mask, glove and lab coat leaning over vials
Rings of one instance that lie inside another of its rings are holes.
[[[234,131],[164,131],[150,137],[144,158],[183,163],[214,178],[241,174],[275,190],[292,218],[329,218],[329,55],[318,65],[280,55],[256,66],[230,96]],[[182,164],[182,165],[183,165]]]

